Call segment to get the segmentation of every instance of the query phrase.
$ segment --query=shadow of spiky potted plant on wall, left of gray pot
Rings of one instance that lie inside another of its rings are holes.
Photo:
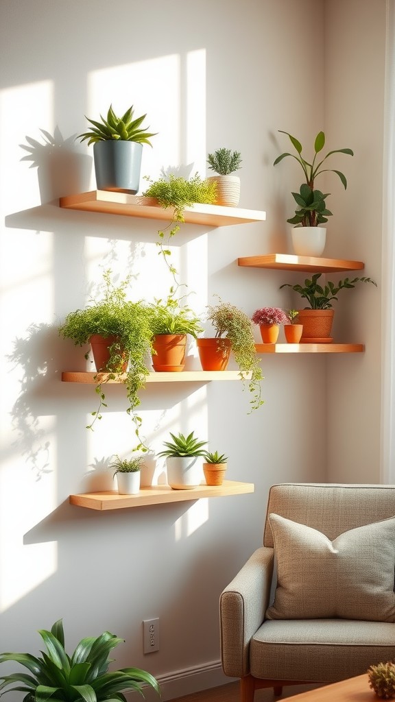
[[[26,135],[26,144],[20,148],[26,153],[21,161],[31,161],[37,168],[41,204],[71,192],[83,192],[89,187],[92,159],[77,150],[73,134],[66,139],[58,127],[53,135],[40,129],[41,140]]]

